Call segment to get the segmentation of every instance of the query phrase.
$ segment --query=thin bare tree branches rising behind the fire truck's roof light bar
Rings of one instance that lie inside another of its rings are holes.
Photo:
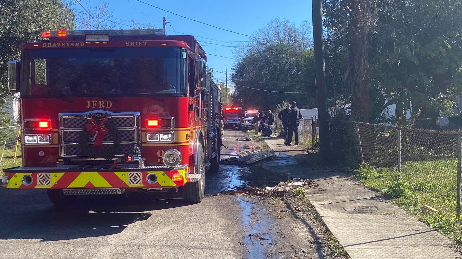
[[[90,6],[88,0],[85,3],[78,2],[83,10],[77,10],[77,28],[79,29],[121,29],[120,22],[114,18],[114,11],[109,8],[109,3],[101,0],[97,6]]]

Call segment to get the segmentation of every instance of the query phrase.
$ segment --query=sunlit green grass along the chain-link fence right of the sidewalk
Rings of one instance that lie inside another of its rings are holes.
[[[456,159],[407,162],[402,164],[401,172],[395,167],[366,164],[354,170],[354,176],[461,246],[462,224],[456,217]],[[436,211],[426,210],[425,206]]]

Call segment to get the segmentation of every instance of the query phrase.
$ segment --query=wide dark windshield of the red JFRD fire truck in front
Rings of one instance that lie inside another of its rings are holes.
[[[26,49],[21,95],[186,95],[186,57],[168,47]]]

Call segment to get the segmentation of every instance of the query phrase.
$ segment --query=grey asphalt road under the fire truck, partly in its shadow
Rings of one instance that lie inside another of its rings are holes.
[[[226,130],[222,152],[243,137]],[[237,143],[237,144],[236,144]],[[248,148],[248,147],[245,147]],[[235,168],[220,165],[206,177],[206,194],[225,190]],[[235,180],[235,179],[234,179]],[[240,201],[207,195],[200,204],[153,195],[84,196],[64,208],[52,206],[43,190],[0,188],[0,258],[175,258],[240,259],[244,249]]]

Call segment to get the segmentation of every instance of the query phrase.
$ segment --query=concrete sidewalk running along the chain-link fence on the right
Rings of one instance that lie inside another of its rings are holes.
[[[302,149],[284,146],[282,139],[265,139],[274,151]],[[461,259],[454,243],[341,172],[312,169],[298,164],[306,152],[263,164],[267,170],[289,173],[291,178],[310,178],[316,188],[305,196],[352,259]]]

